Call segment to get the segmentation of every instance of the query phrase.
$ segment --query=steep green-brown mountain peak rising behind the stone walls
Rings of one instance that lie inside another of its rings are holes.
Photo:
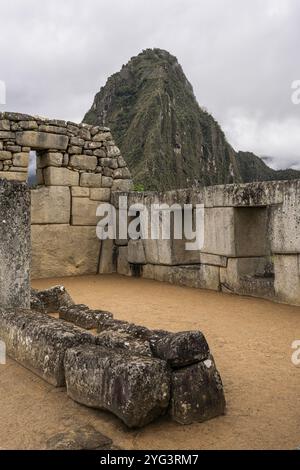
[[[84,122],[111,128],[135,183],[145,189],[248,181],[246,159],[237,158],[166,51],[147,49],[112,75]]]

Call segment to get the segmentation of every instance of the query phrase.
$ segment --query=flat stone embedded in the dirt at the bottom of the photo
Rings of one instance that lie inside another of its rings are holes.
[[[112,440],[91,426],[72,429],[50,437],[48,450],[110,450]]]

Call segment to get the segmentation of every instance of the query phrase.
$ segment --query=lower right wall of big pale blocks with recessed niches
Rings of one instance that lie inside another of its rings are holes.
[[[128,205],[148,208],[204,204],[204,247],[191,252],[185,240],[117,239],[120,274],[300,305],[300,181],[127,196]]]

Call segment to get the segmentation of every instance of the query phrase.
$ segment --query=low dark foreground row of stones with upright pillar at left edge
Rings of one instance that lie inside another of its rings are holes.
[[[29,189],[0,181],[2,205],[14,216],[12,229],[2,227],[7,236],[0,252],[1,287],[14,275],[21,280],[4,285],[1,299],[0,338],[7,353],[53,386],[66,386],[73,400],[110,411],[130,428],[167,413],[181,424],[224,414],[222,381],[201,332],[153,331],[120,321],[110,312],[74,305],[62,286],[30,292],[30,239],[22,243],[29,235]],[[22,211],[11,212],[10,197]],[[15,233],[19,222],[25,230]],[[17,267],[3,255],[13,235]],[[53,312],[60,318],[49,315]]]

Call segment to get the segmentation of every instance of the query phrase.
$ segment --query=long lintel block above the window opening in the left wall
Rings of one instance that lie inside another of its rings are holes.
[[[16,133],[16,142],[22,147],[30,147],[33,150],[66,150],[69,137],[66,135],[49,134],[47,132],[24,131]]]

